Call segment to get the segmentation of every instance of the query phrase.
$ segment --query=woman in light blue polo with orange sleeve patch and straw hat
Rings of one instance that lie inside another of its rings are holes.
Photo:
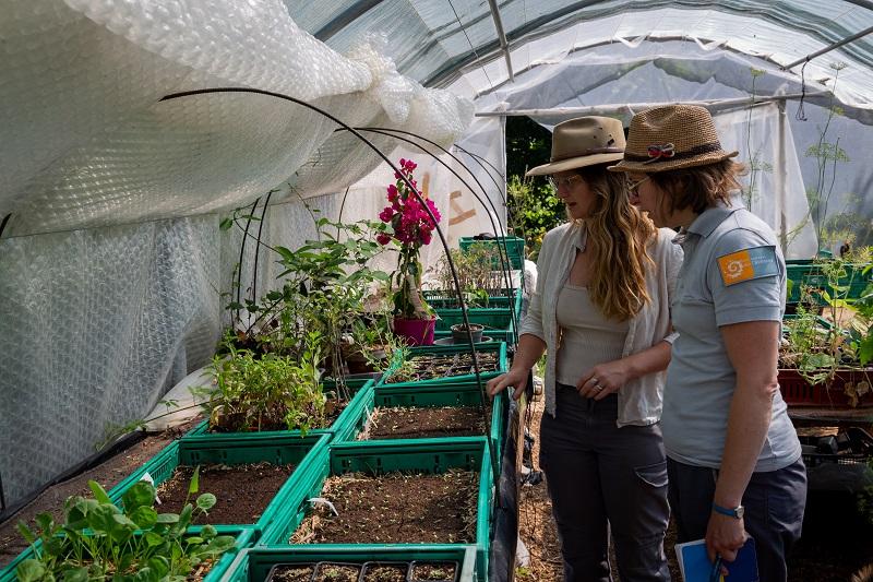
[[[710,559],[730,562],[751,535],[761,580],[779,581],[806,497],[777,383],[786,269],[773,230],[731,204],[736,155],[706,109],[673,105],[633,118],[610,169],[656,225],[680,228],[684,251],[661,420],[679,541],[705,537]]]

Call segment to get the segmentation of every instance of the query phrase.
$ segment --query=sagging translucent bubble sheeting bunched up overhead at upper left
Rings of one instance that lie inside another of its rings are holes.
[[[468,100],[397,73],[379,54],[385,46],[379,37],[359,38],[343,56],[300,29],[278,0],[36,0],[14,4],[5,16],[0,216],[12,215],[7,236],[247,205],[291,180],[337,127],[264,95],[159,102],[175,92],[277,92],[350,124],[387,117],[444,144],[473,115]],[[357,175],[378,164],[357,156],[356,164],[366,162]],[[324,185],[314,177],[308,186],[316,193],[337,187],[330,176]]]

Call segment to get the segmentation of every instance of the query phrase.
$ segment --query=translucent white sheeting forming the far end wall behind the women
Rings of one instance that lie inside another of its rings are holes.
[[[859,242],[873,241],[870,239],[873,200],[863,195],[873,188],[873,168],[863,157],[865,144],[872,139],[871,111],[842,106],[842,115],[828,124],[827,107],[832,98],[813,94],[804,99],[806,120],[798,119],[798,99],[790,99],[781,115],[773,108],[753,108],[750,121],[748,108],[741,102],[748,103],[753,91],[757,97],[799,95],[798,80],[772,63],[722,50],[721,46],[681,40],[643,43],[639,38],[636,43],[617,40],[576,52],[561,51],[559,47],[573,46],[572,38],[562,36],[566,34],[564,31],[553,35],[566,45],[549,37],[553,54],[531,62],[531,68],[518,74],[514,83],[480,95],[476,100],[477,111],[531,111],[534,119],[551,127],[582,115],[612,115],[626,124],[634,112],[648,104],[711,102],[709,108],[716,117],[739,108],[719,121],[723,141],[726,146],[740,151],[737,159],[746,165],[752,161],[750,145],[753,154],[761,153],[755,166],[764,169],[754,174],[757,200],[753,201],[752,210],[761,213],[777,233],[786,235],[790,242],[788,257],[815,254],[816,223],[832,225],[852,215],[860,216],[854,221]],[[582,44],[583,37],[574,38]],[[753,78],[753,67],[763,74]],[[840,71],[840,75],[845,73]],[[723,102],[732,105],[718,105]],[[828,166],[827,180],[818,187],[820,159],[810,149],[818,143],[823,132],[825,142],[838,140],[847,155],[838,162],[836,174],[830,171],[833,164]],[[491,132],[491,139],[498,139],[497,131]],[[808,191],[822,189],[830,190],[827,213],[821,218],[813,213],[811,217]],[[827,238],[821,245],[839,246]]]

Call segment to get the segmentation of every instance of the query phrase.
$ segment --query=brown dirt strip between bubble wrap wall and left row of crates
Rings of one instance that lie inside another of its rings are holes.
[[[188,432],[201,420],[202,418],[196,418],[165,432],[146,436],[133,447],[116,454],[99,466],[47,488],[15,515],[0,523],[0,568],[5,567],[27,547],[24,538],[21,537],[15,527],[19,520],[25,521],[33,526],[34,516],[46,511],[55,514],[56,518],[61,518],[63,502],[68,497],[73,495],[91,497],[88,480],[96,480],[108,491],[174,439]]]

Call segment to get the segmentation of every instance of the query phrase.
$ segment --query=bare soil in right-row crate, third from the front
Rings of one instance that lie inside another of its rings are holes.
[[[482,414],[479,406],[376,408],[368,437],[370,440],[475,437],[485,433]]]

